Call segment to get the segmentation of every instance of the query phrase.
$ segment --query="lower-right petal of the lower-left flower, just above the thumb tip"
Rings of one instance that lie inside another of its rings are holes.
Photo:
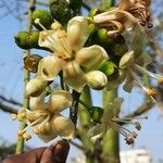
[[[71,118],[62,115],[53,116],[52,126],[55,128],[58,134],[64,139],[73,139],[75,136],[75,126]]]

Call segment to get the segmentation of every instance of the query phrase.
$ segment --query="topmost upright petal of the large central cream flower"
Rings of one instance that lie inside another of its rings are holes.
[[[89,37],[89,24],[83,16],[75,16],[67,24],[67,37],[72,50],[78,51]]]

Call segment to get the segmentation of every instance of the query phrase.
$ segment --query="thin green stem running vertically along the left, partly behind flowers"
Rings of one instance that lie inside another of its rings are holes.
[[[32,15],[35,10],[35,3],[36,0],[29,0],[28,3],[28,17],[27,17],[27,32],[32,30]],[[26,51],[26,55],[30,54],[30,50]],[[24,88],[26,88],[26,85],[29,80],[29,72],[24,68]],[[24,89],[24,101],[23,101],[23,109],[29,108],[29,98],[26,96],[25,89]],[[24,122],[21,123],[20,129],[24,129],[26,124]],[[22,153],[24,150],[24,139],[17,137],[17,143],[16,143],[16,151],[15,153]]]

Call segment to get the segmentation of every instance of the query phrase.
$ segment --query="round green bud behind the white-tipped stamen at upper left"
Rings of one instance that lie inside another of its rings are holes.
[[[40,23],[47,28],[50,29],[53,18],[49,11],[47,10],[35,10],[33,13],[33,24],[37,29],[42,29],[38,24],[35,23],[35,20],[39,18]]]

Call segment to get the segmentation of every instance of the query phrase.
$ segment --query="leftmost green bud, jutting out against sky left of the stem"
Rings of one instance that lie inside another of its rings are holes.
[[[39,32],[20,32],[15,37],[16,45],[22,49],[38,48]]]

